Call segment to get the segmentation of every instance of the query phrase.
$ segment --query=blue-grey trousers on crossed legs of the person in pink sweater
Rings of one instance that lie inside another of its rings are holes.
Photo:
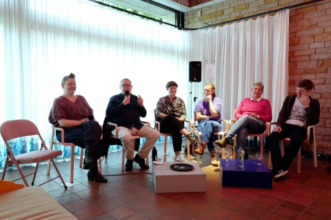
[[[249,133],[263,133],[265,131],[265,122],[253,118],[250,115],[243,115],[235,122],[225,136],[229,141],[232,140],[234,135],[237,135],[237,146],[242,146],[243,149],[246,148],[246,138]],[[260,140],[260,142],[263,140]]]

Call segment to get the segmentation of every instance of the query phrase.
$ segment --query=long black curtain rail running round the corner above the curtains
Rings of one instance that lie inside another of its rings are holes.
[[[287,7],[284,7],[284,8],[279,8],[279,9],[276,9],[276,10],[271,10],[269,12],[263,12],[263,13],[260,13],[260,14],[253,14],[253,15],[250,15],[248,17],[244,17],[244,18],[241,18],[241,19],[234,19],[234,20],[231,20],[231,21],[225,21],[225,22],[221,22],[221,23],[215,23],[215,24],[212,24],[212,25],[207,25],[207,26],[204,26],[204,27],[201,27],[201,28],[182,28],[181,26],[178,26],[178,25],[172,25],[171,23],[166,23],[164,21],[159,21],[157,19],[153,19],[153,18],[150,18],[150,17],[146,17],[146,16],[143,16],[141,14],[137,14],[137,13],[134,13],[134,12],[129,12],[127,10],[123,10],[121,8],[117,8],[117,7],[114,7],[112,5],[108,5],[106,3],[103,3],[103,2],[100,2],[100,1],[95,1],[95,0],[88,0],[88,1],[92,1],[94,3],[97,3],[99,5],[103,5],[103,6],[106,6],[106,7],[109,7],[109,8],[113,8],[115,10],[119,10],[121,12],[126,12],[128,14],[132,14],[132,15],[135,15],[135,16],[138,16],[138,17],[142,17],[143,19],[148,19],[148,20],[152,20],[152,21],[155,21],[157,23],[161,23],[161,24],[165,24],[165,25],[170,25],[174,28],[178,28],[179,30],[201,30],[201,29],[204,29],[204,28],[212,28],[214,26],[218,26],[218,25],[224,25],[224,24],[227,24],[227,23],[232,23],[232,22],[236,22],[236,21],[241,21],[241,20],[244,20],[244,19],[250,19],[250,18],[254,18],[254,17],[259,17],[261,15],[265,15],[265,14],[272,14],[274,12],[279,12],[281,10],[285,10],[285,9],[290,9],[290,8],[297,8],[299,6],[302,6],[302,5],[309,5],[311,3],[317,3],[319,1],[325,1],[325,0],[312,0],[312,1],[306,1],[306,2],[303,2],[303,3],[298,3],[296,5],[290,5],[290,6],[287,6]],[[181,12],[183,13],[183,12]]]

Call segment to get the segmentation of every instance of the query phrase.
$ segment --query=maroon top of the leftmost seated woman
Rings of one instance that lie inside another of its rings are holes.
[[[53,126],[60,127],[58,120],[68,119],[80,121],[84,118],[88,118],[88,115],[93,115],[93,109],[83,96],[77,95],[77,99],[74,102],[70,102],[67,98],[59,96],[55,98],[52,109],[50,109],[50,115],[48,121]]]

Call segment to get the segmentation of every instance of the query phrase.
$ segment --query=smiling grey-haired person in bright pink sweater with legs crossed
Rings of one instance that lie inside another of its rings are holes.
[[[268,99],[261,98],[263,94],[263,84],[260,82],[254,83],[252,97],[241,100],[239,107],[234,114],[237,121],[233,124],[228,134],[221,140],[214,142],[220,147],[225,147],[230,143],[234,135],[237,135],[237,146],[242,146],[245,150],[245,159],[248,159],[246,151],[246,137],[249,133],[263,133],[265,131],[265,123],[271,122],[272,111]],[[263,141],[263,140],[261,140]]]

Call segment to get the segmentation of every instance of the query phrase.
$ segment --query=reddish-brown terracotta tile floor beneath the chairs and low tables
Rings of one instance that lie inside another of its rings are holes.
[[[172,144],[168,143],[169,148]],[[162,152],[163,144],[157,145]],[[254,154],[250,154],[251,159]],[[263,158],[268,162],[268,154]],[[209,153],[201,157],[200,167],[207,174],[205,192],[155,194],[152,168],[121,172],[121,151],[102,162],[107,184],[88,181],[87,170],[75,159],[74,186],[64,190],[59,179],[42,187],[79,219],[331,219],[331,173],[329,162],[302,157],[301,174],[294,159],[288,175],[272,182],[272,189],[222,188],[219,168],[210,166]],[[57,162],[65,181],[69,182],[70,162]],[[24,170],[31,170],[25,167]],[[47,179],[46,165],[37,178]],[[52,175],[54,175],[54,170]],[[17,176],[8,170],[5,179]],[[245,179],[243,179],[245,181]],[[36,182],[36,184],[38,184]]]

